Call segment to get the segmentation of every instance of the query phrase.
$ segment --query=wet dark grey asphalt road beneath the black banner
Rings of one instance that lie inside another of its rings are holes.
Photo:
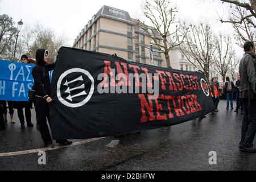
[[[26,123],[26,128],[21,129],[15,110],[16,123],[11,124],[8,114],[7,128],[0,131],[0,171],[255,170],[256,154],[242,153],[238,148],[242,114],[225,110],[225,103],[221,100],[220,112],[202,120],[126,134],[122,138],[73,140],[72,146],[49,151],[46,148],[46,165],[38,164],[38,151],[27,151],[44,148],[39,130],[35,126],[27,128]],[[36,125],[34,109],[32,123]],[[118,145],[106,147],[112,140],[119,140]],[[17,155],[19,151],[24,151],[23,155]],[[216,151],[216,165],[209,164],[210,151]]]

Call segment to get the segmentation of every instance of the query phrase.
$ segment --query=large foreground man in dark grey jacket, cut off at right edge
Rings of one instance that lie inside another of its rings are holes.
[[[239,144],[242,152],[256,152],[253,140],[256,133],[256,64],[255,47],[253,42],[246,42],[243,46],[245,55],[239,65],[241,77],[240,98],[242,98],[244,115],[242,122],[242,136]]]

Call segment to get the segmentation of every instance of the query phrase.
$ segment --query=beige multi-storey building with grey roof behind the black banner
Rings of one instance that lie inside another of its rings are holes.
[[[130,18],[129,13],[103,6],[82,29],[73,48],[110,55],[116,53],[126,60],[166,67],[164,54],[156,52],[159,49],[154,44],[152,59],[150,44],[147,33],[138,26],[137,20]]]

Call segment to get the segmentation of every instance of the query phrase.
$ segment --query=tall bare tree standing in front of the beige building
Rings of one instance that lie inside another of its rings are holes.
[[[146,1],[143,11],[152,26],[147,26],[140,20],[138,26],[154,40],[155,45],[160,49],[158,52],[164,53],[168,68],[170,67],[169,51],[180,46],[184,40],[184,36],[178,34],[180,26],[179,22],[176,21],[177,9],[172,7],[168,0],[154,0]],[[156,39],[157,36],[162,38],[163,44]]]

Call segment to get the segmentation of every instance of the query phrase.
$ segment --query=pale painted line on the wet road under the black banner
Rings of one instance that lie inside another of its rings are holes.
[[[89,143],[89,142],[93,142],[96,140],[100,140],[103,139],[105,137],[102,138],[92,138],[92,139],[88,139],[88,140],[82,140],[80,142],[75,142],[72,143],[70,145],[67,146],[56,146],[54,148],[38,148],[38,149],[34,149],[34,150],[25,150],[25,151],[18,151],[18,152],[7,152],[7,153],[0,153],[0,157],[3,156],[14,156],[14,155],[25,155],[25,154],[33,154],[33,153],[38,153],[39,151],[51,151],[51,150],[57,150],[60,148],[67,148],[67,147],[72,147],[72,146],[77,146],[79,144],[84,144],[84,143]]]

